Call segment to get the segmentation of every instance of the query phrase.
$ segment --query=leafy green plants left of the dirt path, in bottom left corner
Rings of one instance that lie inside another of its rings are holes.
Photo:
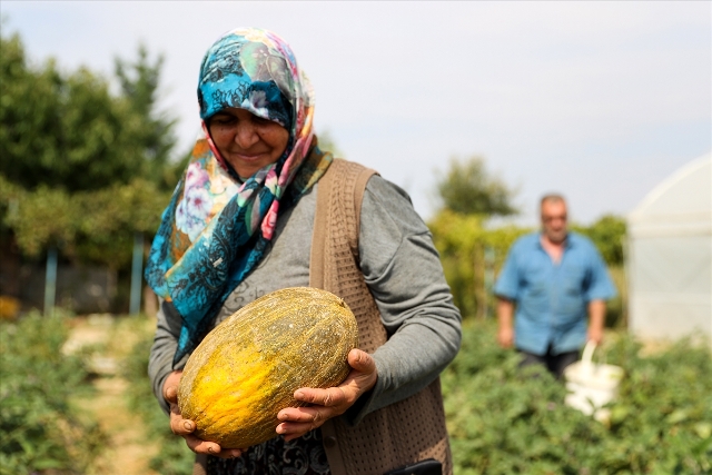
[[[80,474],[106,437],[70,404],[91,390],[79,356],[63,356],[66,318],[0,321],[0,474]]]

